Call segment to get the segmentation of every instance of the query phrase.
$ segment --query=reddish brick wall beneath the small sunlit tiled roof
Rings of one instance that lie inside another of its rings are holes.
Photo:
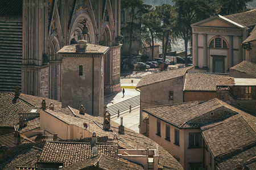
[[[217,98],[216,91],[207,92],[207,91],[184,91],[184,102],[189,101],[201,101],[201,100],[210,100]]]

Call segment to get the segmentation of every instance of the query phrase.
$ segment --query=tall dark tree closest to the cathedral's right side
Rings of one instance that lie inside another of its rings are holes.
[[[136,39],[135,33],[141,33],[141,16],[148,12],[151,8],[150,5],[146,5],[142,0],[121,0],[122,10],[129,11],[129,22],[125,22],[121,31],[125,33],[129,39],[129,64],[131,63],[131,46],[133,40]]]

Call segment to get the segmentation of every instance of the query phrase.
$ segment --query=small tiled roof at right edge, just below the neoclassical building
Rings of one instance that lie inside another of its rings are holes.
[[[230,70],[240,71],[245,74],[256,76],[256,64],[249,61],[242,61],[238,65],[231,67]]]

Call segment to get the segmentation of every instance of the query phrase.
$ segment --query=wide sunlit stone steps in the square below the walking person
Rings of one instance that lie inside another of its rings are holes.
[[[107,111],[109,111],[111,118],[118,117],[118,110],[119,110],[119,116],[121,116],[124,113],[130,112],[130,106],[131,106],[131,111],[139,108],[140,100],[141,100],[140,96],[141,95],[131,97],[130,99],[121,101],[117,104],[114,104],[108,107]]]

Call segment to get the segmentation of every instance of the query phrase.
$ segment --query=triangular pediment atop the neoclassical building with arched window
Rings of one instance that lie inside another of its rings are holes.
[[[241,28],[242,25],[232,22],[229,19],[224,18],[223,16],[213,16],[211,18],[201,20],[195,24],[191,25],[192,27],[218,27],[218,28]]]

